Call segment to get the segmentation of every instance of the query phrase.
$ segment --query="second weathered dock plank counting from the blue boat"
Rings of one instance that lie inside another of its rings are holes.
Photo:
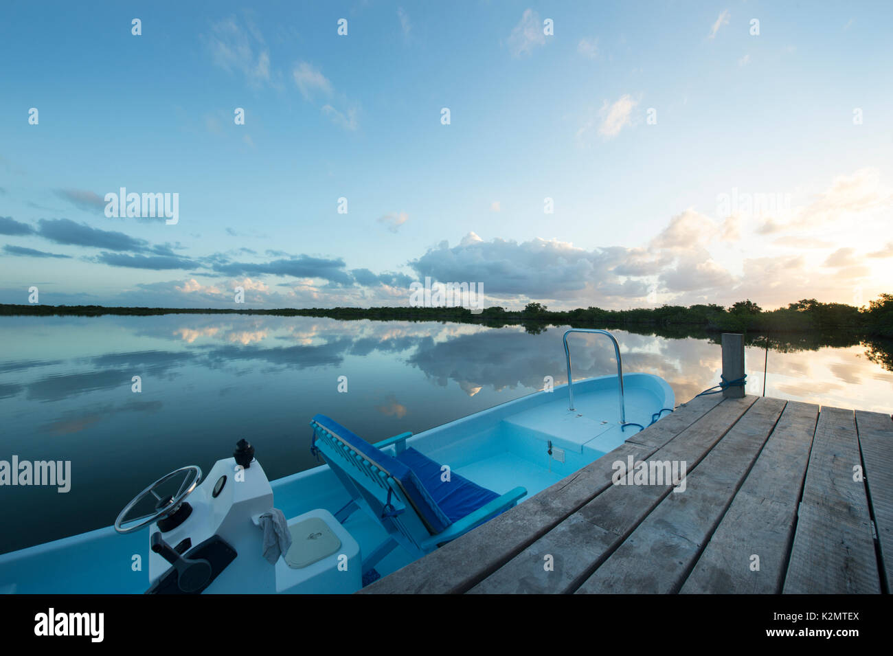
[[[696,467],[755,401],[755,396],[746,396],[716,404],[702,419],[656,450],[654,459],[687,461],[689,469]],[[659,422],[652,428],[657,426]],[[605,457],[593,464],[610,480],[615,460],[621,459]],[[480,581],[471,592],[573,592],[671,491],[672,485],[606,486],[591,502]],[[545,567],[547,557],[552,558],[552,569]]]

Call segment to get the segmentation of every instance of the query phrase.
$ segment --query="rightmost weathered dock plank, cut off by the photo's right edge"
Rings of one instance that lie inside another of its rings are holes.
[[[893,420],[880,412],[855,411],[855,428],[889,592],[893,590]]]

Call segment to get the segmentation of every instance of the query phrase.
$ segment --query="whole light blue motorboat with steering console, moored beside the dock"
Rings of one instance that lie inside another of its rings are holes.
[[[573,382],[572,333],[609,337],[616,375]],[[240,440],[206,477],[187,466],[146,486],[113,526],[0,555],[0,592],[354,593],[673,410],[663,378],[624,376],[609,332],[572,328],[563,345],[566,384],[418,435],[369,444],[349,418],[317,415],[295,448],[321,464],[288,477],[269,481],[263,453]]]

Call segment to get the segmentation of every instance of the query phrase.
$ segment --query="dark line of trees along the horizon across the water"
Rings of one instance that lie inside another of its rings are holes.
[[[657,308],[604,310],[597,307],[575,310],[549,310],[542,303],[527,303],[523,310],[488,307],[477,314],[462,307],[335,307],[335,308],[145,308],[104,307],[101,305],[2,304],[0,315],[79,315],[104,314],[268,314],[276,316],[329,317],[332,319],[460,321],[488,326],[513,322],[540,322],[555,325],[653,326],[657,328],[697,327],[707,332],[797,333],[846,330],[867,336],[893,337],[893,295],[881,294],[867,306],[821,303],[814,298],[789,303],[786,308],[763,310],[747,299],[724,307],[716,303],[663,305]]]

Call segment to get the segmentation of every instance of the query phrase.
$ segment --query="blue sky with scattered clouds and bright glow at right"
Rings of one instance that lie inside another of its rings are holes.
[[[408,305],[429,277],[507,308],[862,305],[893,292],[890,24],[889,2],[4,4],[0,303]],[[121,187],[176,195],[175,220],[110,211]]]

